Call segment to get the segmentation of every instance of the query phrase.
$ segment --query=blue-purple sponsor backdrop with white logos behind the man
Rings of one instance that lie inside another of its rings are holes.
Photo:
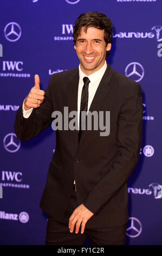
[[[21,142],[14,120],[34,86],[35,74],[44,90],[52,74],[79,65],[73,26],[87,11],[99,11],[112,20],[107,61],[142,87],[142,146],[127,182],[127,245],[162,245],[161,8],[161,0],[0,1],[1,245],[44,245],[48,216],[39,203],[55,150],[55,132],[50,126]]]

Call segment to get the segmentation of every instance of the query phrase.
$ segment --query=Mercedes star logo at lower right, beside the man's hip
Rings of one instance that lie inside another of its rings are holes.
[[[142,224],[138,218],[130,217],[128,221],[129,227],[127,228],[126,235],[129,237],[137,237],[141,234]]]

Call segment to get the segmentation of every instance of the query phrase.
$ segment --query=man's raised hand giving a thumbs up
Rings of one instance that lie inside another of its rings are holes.
[[[35,86],[31,88],[30,93],[25,98],[24,108],[25,110],[29,110],[31,107],[38,108],[41,106],[44,100],[44,91],[40,90],[40,77],[35,75]]]

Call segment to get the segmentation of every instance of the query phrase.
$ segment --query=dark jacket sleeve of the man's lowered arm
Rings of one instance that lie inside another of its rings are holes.
[[[118,117],[118,151],[115,160],[83,202],[94,214],[98,214],[118,193],[138,162],[142,137],[142,112],[141,86],[133,83],[126,94]]]

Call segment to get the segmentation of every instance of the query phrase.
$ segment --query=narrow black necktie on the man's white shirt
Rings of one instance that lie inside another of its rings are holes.
[[[90,83],[90,80],[89,80],[88,77],[85,76],[83,78],[83,82],[84,82],[84,85],[83,85],[83,88],[82,88],[81,105],[80,105],[80,119],[79,119],[80,130],[78,132],[79,141],[80,141],[81,133],[82,133],[81,126],[83,125],[83,123],[85,121],[85,118],[83,119],[83,116],[81,115],[81,112],[82,111],[87,112],[87,108],[88,108],[88,85]],[[81,118],[81,116],[82,116],[82,118]],[[82,123],[81,123],[81,121],[82,121]]]

